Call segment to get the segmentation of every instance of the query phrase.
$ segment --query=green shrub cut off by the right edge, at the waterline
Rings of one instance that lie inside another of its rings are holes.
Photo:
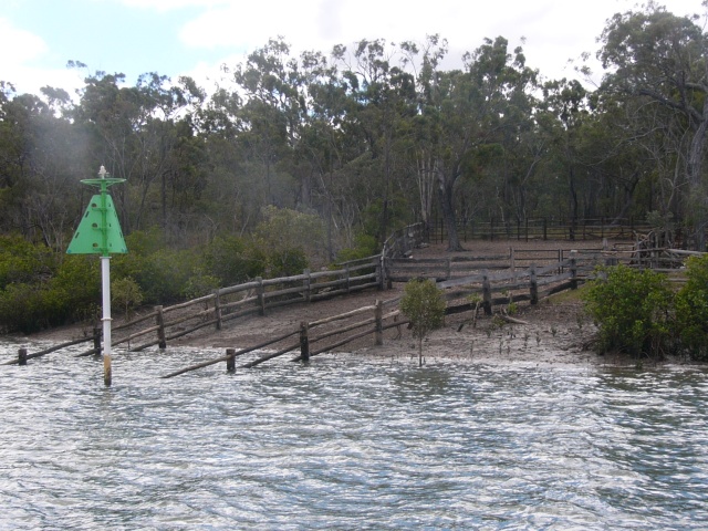
[[[676,322],[680,344],[693,360],[708,360],[708,254],[691,257],[688,281],[676,294]]]

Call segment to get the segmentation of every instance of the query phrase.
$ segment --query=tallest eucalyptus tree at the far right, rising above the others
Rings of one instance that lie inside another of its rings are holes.
[[[697,17],[676,17],[649,2],[644,11],[616,13],[608,20],[597,53],[605,69],[602,90],[636,98],[645,116],[646,133],[654,126],[653,108],[680,117],[684,135],[676,153],[688,192],[687,223],[697,248],[705,248],[708,202],[704,159],[708,131],[708,74],[706,34]],[[635,131],[633,134],[637,134]],[[680,187],[679,187],[680,189]]]

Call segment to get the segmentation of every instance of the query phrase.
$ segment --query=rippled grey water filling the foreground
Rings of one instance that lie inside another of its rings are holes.
[[[706,369],[221,355],[1,366],[0,529],[708,529]]]

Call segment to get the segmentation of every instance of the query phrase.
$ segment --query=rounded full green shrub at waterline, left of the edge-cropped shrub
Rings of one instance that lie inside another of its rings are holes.
[[[600,268],[583,293],[600,326],[601,352],[660,356],[674,350],[674,292],[665,275],[625,266]]]

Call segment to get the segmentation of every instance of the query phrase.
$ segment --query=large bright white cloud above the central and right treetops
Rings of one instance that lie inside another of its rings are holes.
[[[525,38],[528,64],[548,76],[560,76],[570,75],[563,72],[570,58],[594,50],[605,18],[618,9],[616,0],[596,3],[603,9],[594,10],[593,17],[561,0],[510,1],[503,11],[497,4],[458,0],[437,0],[434,7],[385,0],[215,2],[181,28],[180,39],[196,50],[243,54],[283,35],[295,53],[327,53],[334,44],[351,45],[361,39],[421,42],[438,33],[450,45],[447,63],[459,66],[462,53],[480,46],[485,38],[502,35],[511,50]]]

